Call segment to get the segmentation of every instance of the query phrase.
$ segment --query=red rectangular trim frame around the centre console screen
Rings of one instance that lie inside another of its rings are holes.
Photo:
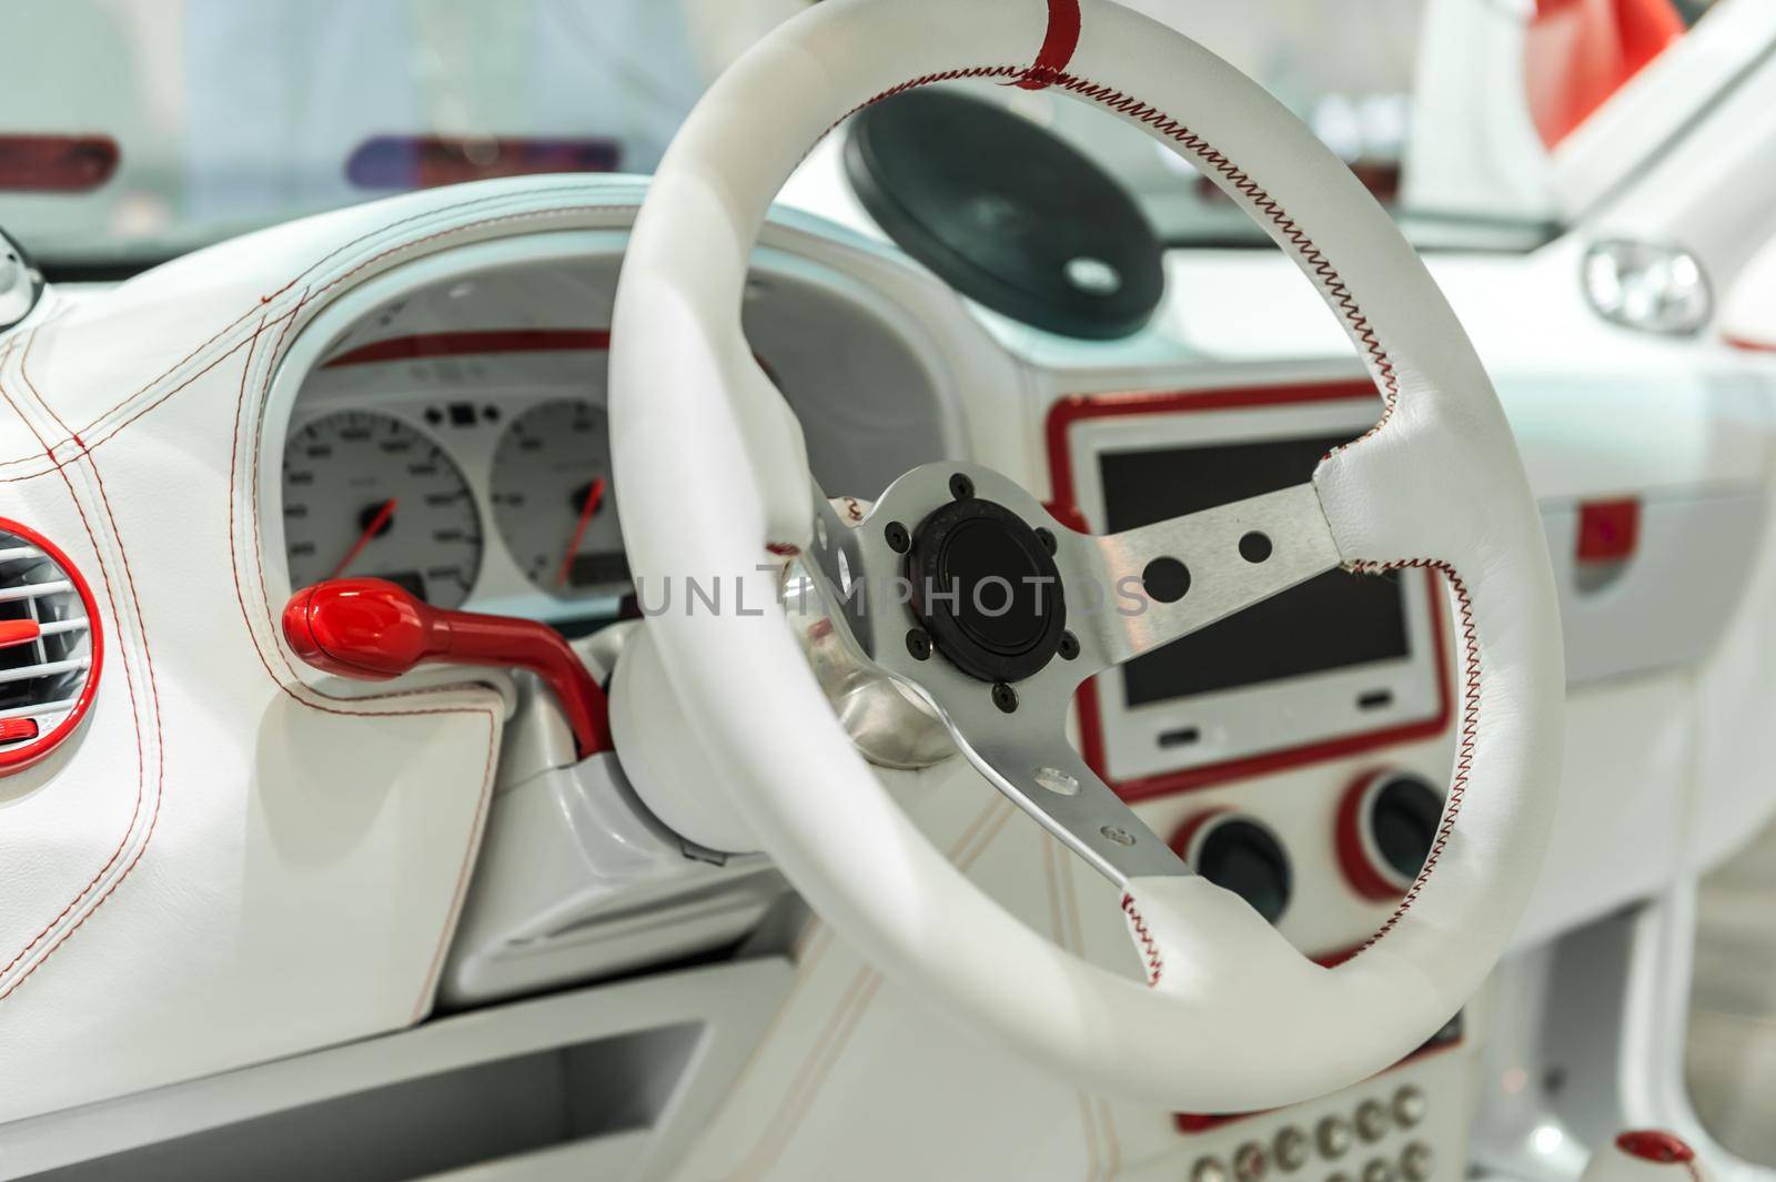
[[[1117,394],[1071,394],[1055,401],[1048,412],[1048,470],[1053,486],[1053,500],[1048,511],[1073,529],[1085,529],[1085,515],[1078,506],[1078,490],[1073,479],[1073,456],[1067,442],[1076,422],[1087,419],[1110,419],[1121,415],[1172,415],[1201,410],[1245,410],[1252,406],[1293,406],[1302,403],[1336,403],[1353,399],[1376,399],[1371,382],[1325,382],[1320,385],[1252,385],[1220,390],[1165,390],[1165,392],[1117,392]],[[1176,792],[1192,792],[1252,776],[1266,776],[1288,767],[1337,760],[1376,747],[1431,738],[1449,729],[1455,719],[1455,703],[1449,696],[1449,637],[1444,626],[1442,582],[1435,571],[1424,571],[1430,587],[1430,625],[1435,637],[1437,653],[1437,713],[1423,722],[1405,722],[1401,726],[1380,728],[1341,735],[1300,747],[1265,751],[1222,763],[1179,768],[1160,776],[1133,779],[1112,779],[1110,760],[1105,751],[1103,715],[1098,708],[1096,678],[1080,685],[1074,705],[1080,712],[1080,744],[1085,761],[1103,776],[1124,800],[1147,800]]]

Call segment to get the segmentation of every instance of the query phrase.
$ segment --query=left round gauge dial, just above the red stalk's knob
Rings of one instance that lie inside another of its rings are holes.
[[[289,586],[371,577],[458,607],[481,570],[481,518],[449,456],[394,415],[341,410],[284,447]]]

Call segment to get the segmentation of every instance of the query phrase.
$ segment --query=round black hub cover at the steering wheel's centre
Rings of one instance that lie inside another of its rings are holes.
[[[913,532],[913,612],[938,651],[982,682],[1019,682],[1060,650],[1060,571],[1043,538],[993,500],[964,497]]]

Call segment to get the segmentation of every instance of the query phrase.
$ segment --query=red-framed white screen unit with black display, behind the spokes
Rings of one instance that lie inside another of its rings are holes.
[[[1055,508],[1119,532],[1312,477],[1380,415],[1368,382],[1064,399]],[[1447,728],[1442,595],[1423,571],[1328,571],[1098,678],[1087,760],[1128,800]]]

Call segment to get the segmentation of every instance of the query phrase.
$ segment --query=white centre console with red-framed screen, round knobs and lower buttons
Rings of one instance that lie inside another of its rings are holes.
[[[1046,422],[1050,508],[1103,534],[1302,485],[1380,414],[1368,380],[1062,398]],[[1433,571],[1328,571],[1085,683],[1080,749],[1197,873],[1336,964],[1435,841],[1447,630]],[[1321,1100],[1177,1115],[1193,1182],[1460,1177],[1483,1020],[1451,1015],[1394,1068]]]

